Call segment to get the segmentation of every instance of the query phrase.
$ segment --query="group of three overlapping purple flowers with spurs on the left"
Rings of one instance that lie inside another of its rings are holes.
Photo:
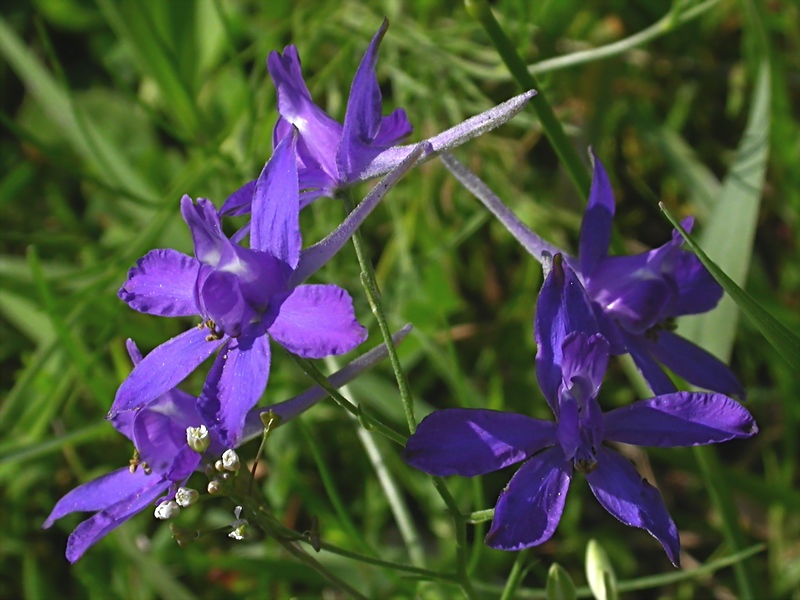
[[[129,341],[134,369],[120,385],[107,418],[133,442],[134,459],[68,493],[45,521],[50,527],[72,512],[95,513],[70,535],[70,561],[156,501],[156,516],[174,514],[181,502],[196,498],[196,492],[182,487],[194,471],[263,429],[259,415],[264,410],[256,405],[269,379],[271,342],[317,359],[347,353],[366,339],[344,289],[304,282],[342,248],[411,167],[503,124],[535,94],[521,94],[429,140],[398,146],[412,128],[402,109],[382,116],[375,75],[387,27],[384,21],[358,67],[343,124],[313,102],[294,46],[282,55],[271,53],[267,64],[279,119],[273,155],[260,176],[239,188],[219,211],[210,200],[184,196],[180,210],[194,256],[153,250],[130,269],[120,299],[139,312],[193,317],[195,324],[144,357]],[[381,183],[339,227],[303,249],[304,206],[381,175]],[[241,214],[249,214],[250,222],[229,238],[222,217]],[[248,237],[249,244],[243,245]],[[332,375],[331,383],[346,383],[385,356],[385,350],[378,347],[356,359]],[[199,396],[177,388],[214,354]],[[286,421],[324,396],[315,388],[270,410]]]

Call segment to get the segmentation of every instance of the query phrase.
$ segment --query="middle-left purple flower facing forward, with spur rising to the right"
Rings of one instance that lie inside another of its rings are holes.
[[[349,294],[335,285],[300,285],[330,259],[405,173],[408,157],[327,238],[301,252],[296,136],[287,136],[264,167],[253,196],[250,248],[229,240],[208,200],[184,196],[181,212],[195,256],[153,250],[131,268],[119,291],[140,312],[199,316],[202,325],[165,342],[117,391],[109,417],[135,410],[183,381],[219,350],[200,410],[235,446],[247,412],[267,385],[269,339],[305,358],[349,352],[366,338]]]

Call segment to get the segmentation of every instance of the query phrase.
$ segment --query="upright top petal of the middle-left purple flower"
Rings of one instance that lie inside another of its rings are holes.
[[[300,258],[300,189],[295,156],[296,134],[278,144],[256,183],[250,247],[268,252],[292,268]]]

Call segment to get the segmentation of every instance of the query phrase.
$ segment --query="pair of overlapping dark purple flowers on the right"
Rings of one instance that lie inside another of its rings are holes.
[[[743,395],[719,360],[665,325],[710,310],[722,290],[680,237],[635,256],[609,257],[614,198],[603,166],[583,219],[577,258],[564,256],[522,223],[450,156],[444,160],[545,266],[536,308],[536,376],[555,422],[484,409],[445,409],[426,417],[404,458],[432,475],[474,477],[523,463],[500,494],[486,543],[499,550],[542,544],[553,535],[575,471],[598,502],[626,525],[655,537],[679,564],[675,523],[652,485],[607,442],[676,447],[754,435]],[[691,226],[691,220],[684,227]],[[604,413],[598,395],[609,356],[630,352],[654,398]],[[687,380],[722,393],[679,392],[656,359]]]

